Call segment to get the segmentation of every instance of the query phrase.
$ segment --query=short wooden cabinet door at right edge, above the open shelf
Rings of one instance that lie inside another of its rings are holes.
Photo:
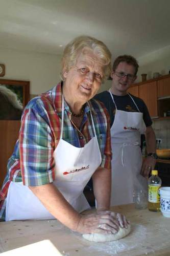
[[[163,78],[157,81],[158,86],[158,98],[170,97],[170,77]]]

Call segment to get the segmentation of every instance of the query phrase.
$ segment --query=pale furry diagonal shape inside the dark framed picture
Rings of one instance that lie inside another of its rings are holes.
[[[14,106],[15,109],[23,109],[22,103],[17,98],[17,95],[8,89],[5,85],[0,86],[0,93],[2,93],[8,99],[8,101]]]

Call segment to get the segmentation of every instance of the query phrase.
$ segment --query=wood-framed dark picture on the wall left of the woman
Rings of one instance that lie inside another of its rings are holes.
[[[0,120],[20,120],[29,99],[29,81],[0,79]]]

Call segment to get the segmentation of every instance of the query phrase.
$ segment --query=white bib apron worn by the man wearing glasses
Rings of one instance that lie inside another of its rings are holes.
[[[114,102],[113,95],[110,95]],[[129,94],[131,97],[131,95]],[[136,105],[135,101],[131,97]],[[114,102],[115,104],[115,102]],[[111,127],[112,190],[111,206],[133,203],[133,190],[137,187],[147,191],[147,179],[140,175],[142,154],[140,136],[146,130],[143,114],[117,110]]]

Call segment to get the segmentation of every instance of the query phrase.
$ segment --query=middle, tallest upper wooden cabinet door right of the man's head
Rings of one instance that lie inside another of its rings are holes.
[[[139,98],[141,98],[148,107],[152,118],[158,117],[157,100],[157,81],[144,83],[139,86]]]

